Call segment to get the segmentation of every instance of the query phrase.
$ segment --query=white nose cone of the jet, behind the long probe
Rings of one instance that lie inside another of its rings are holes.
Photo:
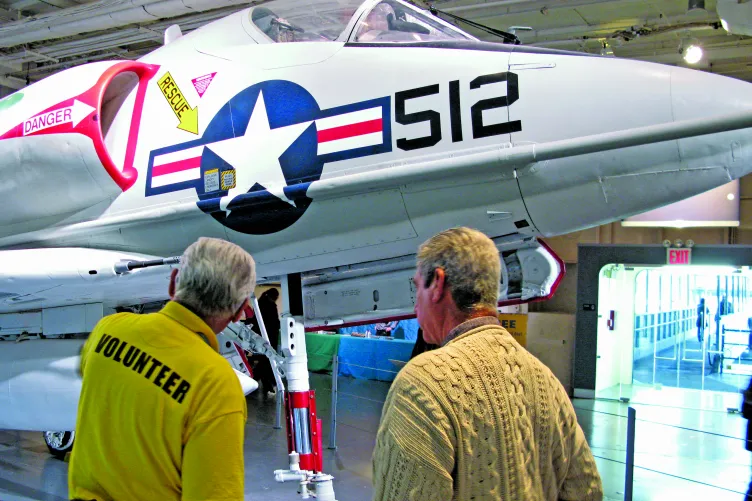
[[[671,70],[674,121],[752,113],[752,84],[675,67]],[[685,169],[726,169],[728,181],[752,172],[752,129],[679,140]],[[699,172],[698,172],[699,173]]]

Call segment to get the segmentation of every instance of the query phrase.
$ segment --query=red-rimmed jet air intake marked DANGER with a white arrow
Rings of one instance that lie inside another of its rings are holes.
[[[71,216],[136,182],[141,112],[156,69],[133,61],[91,63],[0,101],[0,197],[6,206],[0,226]],[[110,126],[121,112],[130,126],[116,144]]]

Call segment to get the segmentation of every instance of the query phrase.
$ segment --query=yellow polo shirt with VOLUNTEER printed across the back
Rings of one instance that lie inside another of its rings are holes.
[[[81,373],[71,499],[243,499],[245,396],[198,316],[170,302],[105,317]]]

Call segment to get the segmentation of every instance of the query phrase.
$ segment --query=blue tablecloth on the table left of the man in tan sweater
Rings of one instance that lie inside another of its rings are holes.
[[[415,341],[391,338],[342,336],[339,341],[339,373],[357,379],[394,380],[402,368],[391,360],[407,362]]]

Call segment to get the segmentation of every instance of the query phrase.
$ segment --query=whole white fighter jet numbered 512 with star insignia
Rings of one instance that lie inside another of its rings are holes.
[[[402,0],[273,0],[62,71],[0,101],[0,338],[45,338],[0,348],[25,378],[0,428],[73,429],[55,360],[81,341],[49,338],[164,301],[199,236],[299,277],[309,329],[410,315],[418,245],[458,225],[497,242],[500,303],[539,300],[564,266],[538,237],[744,176],[751,126],[746,82],[481,42]]]

